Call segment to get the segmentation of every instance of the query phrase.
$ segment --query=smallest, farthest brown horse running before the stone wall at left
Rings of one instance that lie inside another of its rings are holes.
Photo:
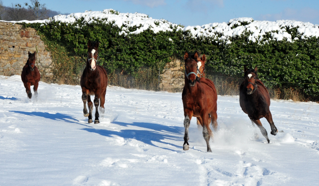
[[[41,79],[41,75],[38,68],[35,66],[36,51],[34,53],[28,52],[28,55],[29,55],[29,58],[22,69],[21,80],[25,87],[25,91],[28,98],[31,99],[32,93],[31,93],[30,86],[33,85],[34,96],[37,97],[38,96],[37,90],[39,86],[39,81]]]

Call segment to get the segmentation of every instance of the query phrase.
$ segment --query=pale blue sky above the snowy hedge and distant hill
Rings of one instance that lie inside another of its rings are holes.
[[[6,6],[29,0],[2,0]],[[39,0],[61,13],[115,9],[140,12],[176,24],[203,25],[238,17],[254,20],[297,20],[319,24],[319,0]]]

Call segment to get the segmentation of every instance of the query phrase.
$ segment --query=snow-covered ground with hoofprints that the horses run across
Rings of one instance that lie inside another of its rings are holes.
[[[33,92],[33,91],[32,91]],[[80,86],[0,76],[0,186],[315,186],[319,104],[274,101],[284,133],[252,139],[238,97],[218,97],[212,153],[195,120],[183,151],[181,93],[108,87],[100,124],[87,124]]]

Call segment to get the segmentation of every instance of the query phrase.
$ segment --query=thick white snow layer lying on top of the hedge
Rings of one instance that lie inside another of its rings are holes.
[[[46,24],[52,20],[61,21],[65,23],[73,23],[79,18],[84,18],[84,22],[92,23],[95,19],[104,19],[105,22],[112,22],[118,27],[122,27],[120,34],[138,34],[144,30],[151,29],[155,33],[159,31],[173,31],[172,28],[177,28],[182,31],[190,31],[193,37],[200,36],[217,36],[221,34],[220,39],[229,41],[229,37],[234,37],[241,35],[244,31],[250,31],[249,39],[253,42],[261,41],[266,32],[271,32],[272,39],[274,40],[284,40],[292,42],[296,38],[292,38],[286,30],[288,28],[296,27],[298,33],[302,39],[307,37],[316,36],[319,37],[319,25],[312,24],[310,22],[301,22],[295,20],[277,20],[277,21],[258,21],[249,17],[241,17],[230,19],[228,22],[222,23],[209,23],[202,26],[181,26],[171,23],[165,19],[154,19],[149,17],[147,14],[143,13],[120,13],[113,9],[104,9],[103,11],[85,11],[83,13],[71,13],[69,15],[56,15],[52,18],[45,20],[35,20],[35,21],[18,21],[34,23],[40,22]],[[15,22],[15,21],[11,21]],[[129,31],[129,27],[137,26],[139,27],[136,31]]]

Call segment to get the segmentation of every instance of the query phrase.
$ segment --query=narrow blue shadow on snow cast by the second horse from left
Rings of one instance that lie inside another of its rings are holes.
[[[61,114],[61,113],[50,114],[47,112],[23,112],[23,111],[9,111],[9,112],[24,114],[24,115],[28,115],[28,116],[38,116],[38,117],[43,117],[46,119],[51,119],[51,120],[56,120],[56,121],[64,121],[67,123],[80,124],[79,120],[77,120],[74,117],[67,115],[67,114]],[[83,125],[83,124],[80,124],[80,125]],[[84,125],[84,126],[87,126],[87,125]],[[91,126],[87,126],[87,127],[91,127]]]

